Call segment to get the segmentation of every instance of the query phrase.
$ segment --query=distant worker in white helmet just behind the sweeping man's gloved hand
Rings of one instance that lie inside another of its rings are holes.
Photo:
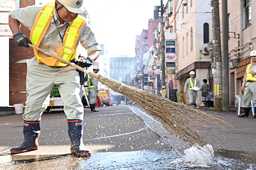
[[[97,72],[100,71],[100,68],[98,65],[95,65],[93,67],[93,72],[97,74]],[[90,103],[90,109],[91,112],[98,112],[98,110],[95,110],[96,106],[96,99],[98,95],[98,89],[97,89],[97,79],[95,77],[92,77],[89,75],[89,81],[88,81],[88,89],[89,89],[89,103]]]

